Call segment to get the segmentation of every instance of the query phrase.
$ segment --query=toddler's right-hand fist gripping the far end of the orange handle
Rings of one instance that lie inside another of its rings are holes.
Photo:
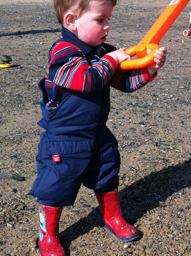
[[[147,50],[147,54],[151,52],[150,49]],[[149,77],[152,77],[155,72],[163,67],[165,60],[166,60],[166,53],[167,49],[165,47],[160,47],[158,50],[156,50],[154,56],[155,56],[155,63],[147,67],[147,73]]]

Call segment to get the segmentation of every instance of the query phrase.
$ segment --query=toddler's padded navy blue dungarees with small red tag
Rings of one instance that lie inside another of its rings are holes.
[[[72,43],[86,53],[80,40]],[[91,49],[90,54],[88,46],[87,51],[91,61],[109,50]],[[56,207],[73,205],[81,184],[96,192],[114,191],[119,184],[120,156],[117,140],[106,127],[110,86],[89,94],[66,91],[58,108],[49,112],[44,80],[39,82],[43,118],[38,124],[45,132],[40,135],[36,157],[38,177],[29,194],[38,197],[40,204]],[[60,162],[53,162],[53,155],[60,155]]]

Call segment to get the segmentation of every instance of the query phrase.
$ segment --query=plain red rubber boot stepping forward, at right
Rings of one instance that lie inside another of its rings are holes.
[[[131,242],[138,238],[138,230],[123,219],[119,204],[118,190],[95,194],[103,214],[103,221],[105,222],[106,228],[109,229],[118,240]]]

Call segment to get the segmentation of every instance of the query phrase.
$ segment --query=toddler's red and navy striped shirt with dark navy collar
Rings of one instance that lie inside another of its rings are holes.
[[[113,46],[105,43],[98,47],[87,46],[64,27],[62,35],[63,39],[53,45],[48,57],[45,76],[48,110],[59,106],[66,90],[93,93],[103,86],[112,86],[123,92],[133,92],[155,79],[148,77],[147,68],[118,69],[113,57],[107,55],[115,50]]]

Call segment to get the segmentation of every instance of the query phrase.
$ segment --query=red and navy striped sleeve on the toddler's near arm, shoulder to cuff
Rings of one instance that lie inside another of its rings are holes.
[[[118,65],[113,57],[103,56],[90,65],[77,47],[56,44],[49,53],[46,82],[49,88],[61,86],[82,93],[95,92],[113,77]]]

